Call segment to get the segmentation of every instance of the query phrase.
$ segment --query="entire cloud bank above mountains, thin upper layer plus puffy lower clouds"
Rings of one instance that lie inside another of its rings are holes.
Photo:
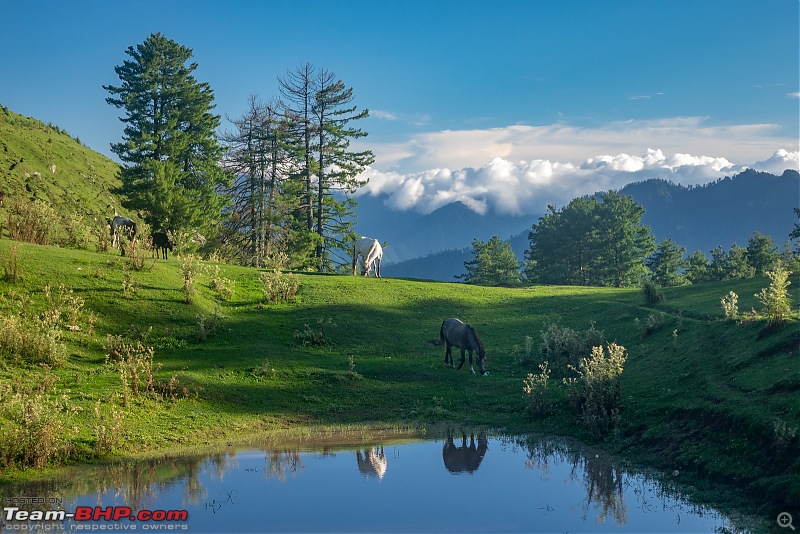
[[[650,178],[702,185],[747,168],[773,174],[800,170],[800,152],[775,149],[797,148],[797,140],[775,136],[775,126],[705,127],[703,121],[684,118],[594,129],[510,126],[420,134],[403,145],[378,147],[376,161],[388,168],[394,162],[396,168],[367,169],[362,177],[369,178],[369,183],[358,195],[385,196],[385,205],[399,211],[430,213],[461,201],[478,213],[528,215],[542,213],[548,204],[563,206],[577,196]],[[641,152],[631,150],[633,145],[659,148]],[[694,155],[686,152],[687,147],[702,150],[701,154],[735,154],[737,161]],[[766,159],[755,159],[756,154],[770,153]],[[530,154],[543,156],[531,158]],[[744,159],[748,156],[753,159]],[[410,161],[425,170],[406,170]]]

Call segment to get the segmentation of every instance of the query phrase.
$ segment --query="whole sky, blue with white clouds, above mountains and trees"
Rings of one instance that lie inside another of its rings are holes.
[[[365,194],[541,211],[659,176],[798,168],[797,0],[0,0],[0,103],[111,155],[103,84],[161,32],[194,50],[216,111],[309,62],[354,89]],[[536,204],[532,208],[532,204]]]

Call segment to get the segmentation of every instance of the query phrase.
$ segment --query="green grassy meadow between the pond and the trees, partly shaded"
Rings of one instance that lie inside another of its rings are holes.
[[[0,339],[14,324],[46,333],[53,314],[43,312],[63,312],[60,340],[43,342],[56,347],[48,356],[0,349],[6,464],[49,465],[318,424],[454,421],[591,440],[566,402],[547,417],[532,415],[522,385],[536,371],[547,324],[585,329],[593,322],[629,354],[621,432],[605,447],[747,488],[765,505],[800,497],[797,323],[774,331],[763,321],[737,324],[722,320],[719,306],[734,290],[740,309],[758,308],[753,295],[766,279],[668,290],[664,303],[649,308],[629,289],[299,275],[293,302],[268,304],[258,271],[204,264],[189,304],[177,259],[147,260],[142,270],[129,261],[0,240]],[[229,300],[212,289],[221,277],[235,283]],[[793,281],[797,303],[800,280]],[[430,340],[450,316],[478,328],[488,376],[445,368],[443,349]],[[659,326],[643,335],[650,316]],[[313,339],[324,344],[303,344]],[[143,368],[123,375],[106,361],[108,354],[124,359],[125,347],[130,354],[139,342],[154,351],[150,385]],[[139,373],[139,396],[132,373]],[[41,458],[41,451],[52,454]]]

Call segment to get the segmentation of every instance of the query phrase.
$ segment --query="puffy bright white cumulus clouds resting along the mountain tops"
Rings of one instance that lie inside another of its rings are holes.
[[[581,164],[545,159],[513,162],[494,157],[485,165],[456,170],[436,168],[402,174],[368,169],[369,184],[359,194],[385,195],[396,210],[429,213],[461,201],[479,213],[542,213],[548,204],[562,206],[571,199],[649,178],[664,178],[682,185],[700,185],[730,176],[748,167],[773,173],[800,167],[800,152],[777,150],[753,164],[734,164],[724,157],[687,153],[665,155],[647,149],[641,155],[619,153],[586,159]]]

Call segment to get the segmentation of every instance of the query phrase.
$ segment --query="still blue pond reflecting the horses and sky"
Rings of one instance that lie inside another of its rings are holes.
[[[438,439],[323,441],[124,460],[2,486],[0,526],[2,532],[738,529],[672,483],[558,439],[454,429]]]

